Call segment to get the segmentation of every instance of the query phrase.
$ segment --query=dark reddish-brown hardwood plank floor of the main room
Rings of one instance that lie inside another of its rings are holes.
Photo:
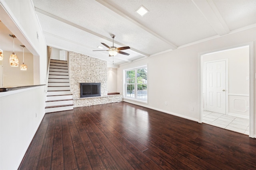
[[[20,170],[256,169],[256,140],[125,102],[47,113]]]

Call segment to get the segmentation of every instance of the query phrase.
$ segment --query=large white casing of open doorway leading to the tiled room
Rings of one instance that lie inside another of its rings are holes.
[[[234,45],[231,47],[225,47],[222,49],[216,49],[213,51],[207,51],[203,53],[198,53],[198,123],[202,123],[202,112],[203,112],[203,69],[204,69],[204,63],[202,61],[202,56],[207,53],[214,53],[218,51],[228,50],[228,49],[234,49],[238,47],[244,47],[249,46],[249,137],[255,137],[254,136],[254,61],[253,61],[253,42],[244,43],[240,45]]]

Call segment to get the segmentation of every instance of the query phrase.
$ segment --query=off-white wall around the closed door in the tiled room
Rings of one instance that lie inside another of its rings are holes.
[[[203,62],[228,59],[228,115],[249,118],[249,46],[203,55]],[[203,80],[205,82],[205,80]],[[205,100],[204,100],[205,101]]]

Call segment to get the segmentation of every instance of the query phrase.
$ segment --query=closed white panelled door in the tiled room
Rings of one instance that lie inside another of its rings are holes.
[[[226,61],[206,63],[206,110],[226,114]]]

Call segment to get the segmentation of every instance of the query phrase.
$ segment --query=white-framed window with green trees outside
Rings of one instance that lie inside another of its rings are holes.
[[[125,98],[147,102],[148,68],[142,66],[125,70]]]

